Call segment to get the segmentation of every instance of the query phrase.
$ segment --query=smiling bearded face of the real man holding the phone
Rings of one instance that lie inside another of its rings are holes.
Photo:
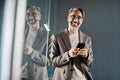
[[[83,16],[79,10],[72,11],[68,15],[68,26],[72,29],[79,29],[83,22]]]

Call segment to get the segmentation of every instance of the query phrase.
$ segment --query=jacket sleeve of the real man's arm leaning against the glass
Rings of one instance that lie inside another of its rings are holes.
[[[50,58],[52,65],[55,67],[61,67],[70,61],[68,56],[68,51],[60,53],[60,47],[58,45],[57,39],[54,35],[51,36],[51,49],[50,49]]]

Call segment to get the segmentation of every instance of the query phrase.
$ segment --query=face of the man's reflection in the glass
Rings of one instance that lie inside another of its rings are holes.
[[[40,19],[41,19],[41,15],[36,9],[31,8],[27,10],[26,20],[28,25],[35,25],[37,24],[37,22],[39,22]]]

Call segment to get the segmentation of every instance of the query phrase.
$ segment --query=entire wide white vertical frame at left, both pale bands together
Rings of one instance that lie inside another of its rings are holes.
[[[26,2],[27,0],[5,1],[1,37],[0,80],[20,79]]]

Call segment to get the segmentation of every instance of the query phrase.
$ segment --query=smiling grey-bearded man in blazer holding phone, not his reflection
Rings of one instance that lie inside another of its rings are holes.
[[[93,80],[89,72],[93,63],[91,37],[79,30],[84,17],[81,8],[70,9],[67,29],[51,37],[53,80]],[[84,48],[76,47],[78,43],[85,43]]]

